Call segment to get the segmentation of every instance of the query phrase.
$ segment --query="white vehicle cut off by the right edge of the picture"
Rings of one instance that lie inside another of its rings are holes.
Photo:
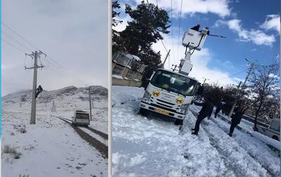
[[[273,119],[269,127],[258,127],[258,132],[272,139],[280,141],[280,119]]]

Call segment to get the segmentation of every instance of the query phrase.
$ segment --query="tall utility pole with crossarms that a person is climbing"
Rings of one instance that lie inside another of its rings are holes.
[[[37,60],[38,58],[40,58],[40,55],[45,55],[45,57],[47,56],[44,52],[41,52],[39,50],[39,52],[35,51],[35,52],[32,52],[32,54],[25,54],[25,55],[28,55],[30,56],[32,59],[34,59],[34,66],[33,67],[29,67],[27,68],[25,66],[25,69],[34,69],[34,72],[33,72],[33,87],[32,87],[32,106],[31,106],[31,118],[30,118],[30,124],[35,124],[36,122],[36,97],[35,97],[35,94],[36,94],[36,90],[37,90],[37,69],[38,68],[44,68],[45,66],[41,65],[41,66],[38,66],[37,64]]]

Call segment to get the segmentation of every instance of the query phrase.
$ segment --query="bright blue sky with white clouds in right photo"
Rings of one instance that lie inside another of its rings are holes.
[[[126,1],[131,6],[136,6],[141,0]],[[145,1],[146,2],[146,1]],[[171,0],[149,0],[150,3],[158,3],[159,7],[166,9],[171,18]],[[123,24],[116,29],[124,30],[126,21],[131,20],[124,13],[124,1],[119,1],[120,18]],[[173,18],[170,33],[164,36],[166,48],[171,49],[168,65],[178,64],[184,57],[184,48],[181,45],[181,37],[186,29],[201,24],[201,27],[209,27],[211,34],[227,36],[216,38],[209,36],[201,51],[195,51],[191,60],[194,64],[190,76],[202,81],[209,78],[209,83],[226,85],[237,83],[244,79],[246,72],[228,78],[233,73],[247,69],[245,57],[259,64],[270,64],[279,57],[280,53],[280,1],[227,1],[227,0],[183,0],[180,41],[178,46],[178,29],[180,21],[181,1],[173,1]],[[174,36],[174,38],[172,38]],[[172,45],[174,44],[174,45]],[[162,53],[162,59],[166,52],[163,45],[156,43],[152,46],[155,51]],[[179,49],[178,49],[179,48]],[[221,79],[226,78],[226,79]]]

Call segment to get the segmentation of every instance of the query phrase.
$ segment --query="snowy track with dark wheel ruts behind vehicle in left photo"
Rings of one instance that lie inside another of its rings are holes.
[[[91,146],[93,146],[93,148],[96,148],[96,150],[98,150],[105,159],[108,158],[107,141],[105,141],[105,139],[108,139],[107,134],[89,127],[83,129],[82,127],[74,126],[72,125],[71,120],[66,118],[60,118],[54,115],[53,117],[67,122],[67,124],[69,124],[77,132],[77,134],[79,134],[79,136],[84,139],[84,141],[87,141]],[[88,129],[90,132],[88,132],[86,129]],[[92,134],[91,132],[93,132],[94,134]]]

